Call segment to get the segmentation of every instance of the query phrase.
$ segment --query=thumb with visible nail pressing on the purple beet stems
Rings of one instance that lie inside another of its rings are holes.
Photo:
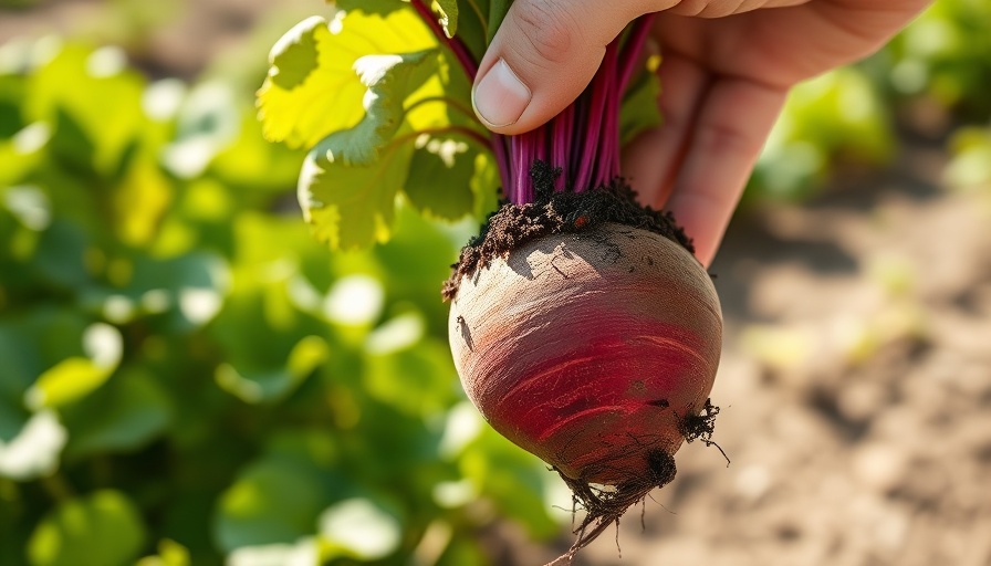
[[[585,90],[606,44],[627,23],[668,3],[515,0],[479,65],[471,92],[476,114],[500,134],[543,125]]]

